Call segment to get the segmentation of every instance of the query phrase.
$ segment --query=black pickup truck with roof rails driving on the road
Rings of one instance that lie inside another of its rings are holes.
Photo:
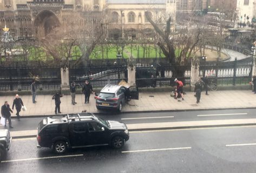
[[[91,113],[44,118],[38,124],[37,148],[51,148],[57,154],[68,148],[110,145],[120,149],[129,139],[126,124],[105,121]]]

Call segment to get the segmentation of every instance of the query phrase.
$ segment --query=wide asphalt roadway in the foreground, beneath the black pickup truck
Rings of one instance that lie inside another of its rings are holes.
[[[14,139],[1,172],[255,172],[256,126],[134,131],[123,149],[95,147],[65,155]],[[64,156],[64,157],[63,157]]]

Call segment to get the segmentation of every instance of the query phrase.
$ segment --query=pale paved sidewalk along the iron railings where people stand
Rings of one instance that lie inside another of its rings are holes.
[[[12,100],[15,96],[0,96],[0,103]],[[47,116],[53,115],[55,109],[51,95],[38,95],[37,103],[32,103],[32,96],[21,96],[27,111],[21,111],[21,116]],[[256,94],[251,90],[209,91],[209,96],[202,92],[199,104],[196,104],[194,92],[187,92],[185,100],[178,102],[170,97],[170,92],[141,92],[139,100],[132,100],[123,107],[123,112],[140,111],[167,111],[167,110],[204,110],[204,109],[231,109],[231,108],[256,108]],[[181,99],[180,99],[181,100]],[[71,96],[64,95],[61,98],[61,112],[63,114],[78,113],[82,110],[88,112],[100,112],[95,107],[94,95],[90,97],[90,103],[84,104],[84,95],[76,95],[76,105],[71,104]],[[16,110],[12,117],[15,117]]]

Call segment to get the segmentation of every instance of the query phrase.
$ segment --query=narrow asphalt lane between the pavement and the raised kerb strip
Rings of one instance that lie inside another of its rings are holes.
[[[213,119],[243,119],[256,118],[256,109],[228,109],[228,110],[200,110],[200,111],[173,111],[173,112],[152,112],[152,113],[123,113],[113,114],[106,112],[106,114],[96,115],[103,119],[121,121],[126,124],[135,123],[154,123],[154,122],[180,122],[180,121],[200,121]],[[14,129],[18,130],[35,130],[38,123],[42,120],[38,118],[21,118],[18,122],[16,118],[12,118],[12,125]],[[0,129],[4,127],[0,125]]]

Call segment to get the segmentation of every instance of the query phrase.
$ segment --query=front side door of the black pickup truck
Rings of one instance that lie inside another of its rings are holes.
[[[87,122],[87,128],[87,145],[108,144],[108,128],[103,124],[96,121],[90,121]]]

